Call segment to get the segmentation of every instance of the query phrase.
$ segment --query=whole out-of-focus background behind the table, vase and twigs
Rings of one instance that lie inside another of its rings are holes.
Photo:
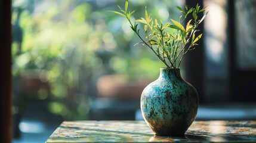
[[[121,0],[13,0],[13,142],[45,142],[63,120],[143,120],[140,94],[165,67],[124,17]],[[168,21],[207,6],[203,38],[181,65],[198,90],[196,120],[256,119],[256,0],[130,0]]]

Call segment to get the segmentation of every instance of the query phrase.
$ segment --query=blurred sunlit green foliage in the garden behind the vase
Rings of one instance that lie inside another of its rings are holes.
[[[137,18],[149,13],[163,20],[178,13],[176,1],[131,1]],[[13,75],[44,71],[50,91],[39,100],[67,120],[85,120],[98,77],[126,74],[130,80],[156,79],[164,65],[138,42],[127,21],[108,13],[123,1],[13,1]],[[175,10],[175,11],[172,11]],[[17,40],[16,40],[17,39]]]

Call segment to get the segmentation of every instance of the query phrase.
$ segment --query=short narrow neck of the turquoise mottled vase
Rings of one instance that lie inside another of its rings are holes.
[[[159,78],[161,79],[169,79],[169,80],[172,80],[172,79],[177,79],[177,78],[181,78],[181,75],[180,75],[180,69],[160,69],[160,76]]]

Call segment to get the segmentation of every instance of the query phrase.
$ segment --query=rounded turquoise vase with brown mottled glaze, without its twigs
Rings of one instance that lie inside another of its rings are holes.
[[[161,69],[141,94],[143,118],[155,135],[183,136],[198,112],[198,92],[180,69]]]

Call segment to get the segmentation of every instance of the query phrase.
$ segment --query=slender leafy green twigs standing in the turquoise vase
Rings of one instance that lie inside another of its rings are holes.
[[[155,18],[153,20],[151,15],[147,13],[146,8],[145,18],[140,18],[132,22],[131,17],[135,10],[128,11],[128,5],[129,2],[126,0],[125,10],[118,6],[120,11],[110,12],[126,17],[129,24],[131,24],[131,29],[141,39],[140,43],[152,49],[168,69],[179,68],[184,55],[198,46],[196,42],[201,39],[202,33],[199,33],[200,30],[197,28],[208,12],[201,19],[199,19],[198,14],[203,13],[205,7],[201,9],[201,6],[197,4],[196,8],[190,8],[186,5],[186,10],[183,10],[183,8],[176,6],[182,14],[180,20],[175,21],[171,19],[172,23],[168,22],[164,24],[161,19],[158,20]],[[193,19],[189,20],[186,23],[186,27],[184,27],[183,23],[190,14],[193,15]],[[137,23],[144,25],[145,39],[142,38],[143,36],[140,34]]]

